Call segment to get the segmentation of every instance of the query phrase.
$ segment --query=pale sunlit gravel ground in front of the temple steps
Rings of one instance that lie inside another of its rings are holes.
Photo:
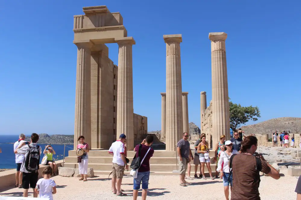
[[[259,192],[262,200],[296,199],[295,187],[298,177],[287,175],[287,170],[281,169],[281,177],[274,180],[271,177],[261,177]],[[53,177],[57,183],[57,194],[54,199],[132,199],[133,178],[126,176],[123,179],[122,189],[127,197],[118,197],[110,191],[111,181],[108,175],[89,178],[87,182],[78,181],[74,177]],[[147,199],[206,199],[221,200],[224,198],[223,183],[217,180],[189,180],[187,187],[179,186],[178,176],[150,176]],[[279,195],[279,189],[281,195]],[[0,195],[21,196],[22,189],[13,188],[1,192]],[[32,197],[30,192],[29,197]],[[141,192],[138,192],[141,199]]]

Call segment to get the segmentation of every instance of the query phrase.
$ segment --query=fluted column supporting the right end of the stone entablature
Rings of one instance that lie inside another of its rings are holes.
[[[127,136],[128,150],[134,149],[133,111],[133,63],[132,37],[115,38],[119,45],[117,80],[117,139],[121,133]]]

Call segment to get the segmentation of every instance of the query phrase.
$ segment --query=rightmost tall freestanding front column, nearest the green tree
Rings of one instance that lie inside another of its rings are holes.
[[[228,78],[224,32],[209,33],[211,40],[212,66],[212,142],[215,145],[220,135],[230,139]]]

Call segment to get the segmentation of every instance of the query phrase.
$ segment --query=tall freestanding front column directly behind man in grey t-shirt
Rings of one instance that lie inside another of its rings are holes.
[[[183,135],[180,42],[182,35],[163,35],[166,43],[166,151],[175,151]]]

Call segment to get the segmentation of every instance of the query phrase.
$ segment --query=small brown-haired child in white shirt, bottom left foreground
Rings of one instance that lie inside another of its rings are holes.
[[[42,171],[43,178],[39,179],[36,183],[36,193],[39,195],[39,198],[49,198],[53,200],[52,195],[56,193],[55,182],[50,179],[52,174],[52,168],[46,167]]]

